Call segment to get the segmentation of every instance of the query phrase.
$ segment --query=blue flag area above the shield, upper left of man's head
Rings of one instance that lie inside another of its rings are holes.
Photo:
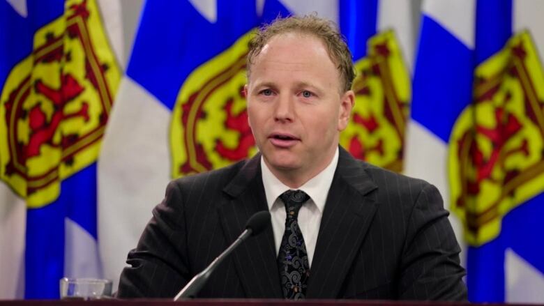
[[[147,1],[127,75],[173,109],[190,72],[255,26],[254,1],[217,1],[215,23],[188,1]]]

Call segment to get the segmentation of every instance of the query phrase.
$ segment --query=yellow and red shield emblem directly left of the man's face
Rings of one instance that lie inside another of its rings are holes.
[[[251,36],[239,38],[183,83],[170,125],[172,176],[225,167],[257,151],[243,96]]]

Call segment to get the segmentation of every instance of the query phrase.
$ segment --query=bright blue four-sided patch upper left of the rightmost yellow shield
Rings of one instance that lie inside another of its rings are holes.
[[[411,118],[445,143],[471,102],[473,52],[431,17],[423,16],[414,69]]]

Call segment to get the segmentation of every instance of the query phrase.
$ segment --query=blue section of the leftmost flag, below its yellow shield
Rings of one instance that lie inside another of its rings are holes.
[[[51,204],[27,211],[25,298],[59,298],[59,280],[70,276],[64,270],[65,218],[98,238],[96,163],[62,181],[61,194]]]

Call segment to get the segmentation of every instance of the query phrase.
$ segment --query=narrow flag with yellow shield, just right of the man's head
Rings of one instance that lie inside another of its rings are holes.
[[[356,69],[356,102],[340,144],[356,158],[397,172],[404,167],[417,3],[339,1],[340,30]]]

